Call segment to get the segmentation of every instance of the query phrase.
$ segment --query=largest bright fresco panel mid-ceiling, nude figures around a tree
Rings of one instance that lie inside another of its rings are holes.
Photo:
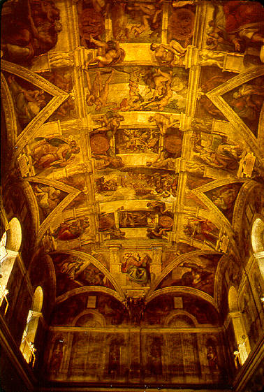
[[[184,68],[115,66],[86,71],[91,114],[121,111],[179,113],[185,110],[189,71]]]

